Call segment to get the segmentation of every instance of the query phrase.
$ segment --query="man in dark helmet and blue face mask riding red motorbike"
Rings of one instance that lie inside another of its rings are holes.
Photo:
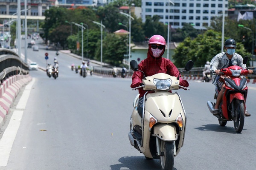
[[[216,105],[214,107],[214,110],[212,111],[212,114],[217,116],[219,115],[219,105],[222,101],[223,96],[223,88],[225,87],[225,84],[223,82],[223,79],[220,79],[220,75],[218,75],[221,72],[221,68],[227,68],[230,65],[239,65],[241,68],[246,69],[246,65],[243,64],[243,58],[241,55],[235,53],[236,51],[236,41],[233,39],[227,39],[224,43],[224,50],[226,52],[222,52],[217,54],[215,57],[212,58],[212,61],[210,62],[210,70],[212,72],[215,72],[216,74],[212,76],[212,84],[217,86],[218,88],[218,96],[216,100]],[[249,74],[253,73],[253,70],[248,70]],[[250,116],[250,113],[248,111],[245,111],[244,116]]]

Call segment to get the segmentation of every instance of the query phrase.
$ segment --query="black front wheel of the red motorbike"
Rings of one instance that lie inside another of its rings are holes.
[[[244,128],[244,102],[236,99],[235,105],[235,116],[233,118],[234,127],[237,133],[240,133]]]

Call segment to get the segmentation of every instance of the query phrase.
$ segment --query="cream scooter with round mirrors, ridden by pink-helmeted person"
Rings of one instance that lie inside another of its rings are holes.
[[[140,71],[135,60],[132,60],[130,65],[133,71]],[[193,65],[194,62],[189,61],[184,71],[191,70]],[[161,170],[172,170],[174,157],[180,152],[184,142],[186,112],[180,95],[169,91],[189,88],[179,85],[179,77],[164,73],[149,77],[144,74],[142,83],[143,85],[132,90],[143,88],[155,93],[144,95],[145,102],[141,114],[137,110],[139,95],[134,99],[129,140],[146,159],[160,159]]]

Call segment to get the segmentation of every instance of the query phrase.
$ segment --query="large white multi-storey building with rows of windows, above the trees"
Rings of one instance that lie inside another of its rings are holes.
[[[158,15],[160,22],[168,23],[172,28],[182,28],[190,23],[196,29],[210,26],[212,17],[227,16],[227,0],[142,0],[142,20]]]

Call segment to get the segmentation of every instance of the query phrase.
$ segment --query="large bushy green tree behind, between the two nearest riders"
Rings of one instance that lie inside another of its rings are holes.
[[[193,40],[190,37],[186,38],[175,49],[172,58],[177,67],[184,67],[189,60],[194,61],[194,67],[202,67],[220,52],[221,32],[208,30]],[[236,53],[243,57],[248,55],[241,43],[237,43]]]

